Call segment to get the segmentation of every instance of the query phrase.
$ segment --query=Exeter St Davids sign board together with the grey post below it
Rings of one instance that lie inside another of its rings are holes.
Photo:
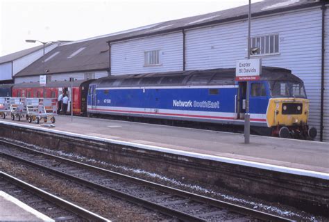
[[[260,79],[262,61],[260,58],[238,60],[235,67],[235,81],[247,81],[246,83],[246,113],[244,113],[244,143],[250,143],[250,113],[248,81]]]

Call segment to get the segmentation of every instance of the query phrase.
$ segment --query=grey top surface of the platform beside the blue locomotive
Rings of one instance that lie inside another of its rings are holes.
[[[42,123],[1,120],[45,129]],[[296,139],[251,136],[251,143],[244,144],[243,134],[187,129],[140,122],[104,120],[98,118],[56,116],[56,127],[50,130],[71,132],[87,136],[110,138],[162,148],[208,154],[215,157],[273,164],[288,168],[329,173],[329,143]]]

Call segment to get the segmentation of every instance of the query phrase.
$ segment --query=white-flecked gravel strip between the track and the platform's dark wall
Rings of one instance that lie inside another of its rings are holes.
[[[22,145],[28,145],[20,141],[14,141]],[[130,168],[127,166],[119,166],[116,164],[111,164],[108,161],[99,161],[97,159],[91,159],[89,157],[83,157],[79,154],[67,153],[61,150],[49,150],[46,148],[40,148],[36,145],[28,145],[30,148],[35,150],[40,150],[42,152],[48,152],[55,154],[60,157],[65,157],[67,159],[74,159],[77,161],[84,162],[85,164],[90,164],[94,166],[99,166],[101,168],[106,168],[110,171],[115,171],[118,173],[124,173],[133,177],[137,177],[143,180],[149,180],[152,182],[157,182],[169,187],[175,187],[177,189],[182,189],[192,193],[198,193],[200,195],[209,196],[217,200],[227,201],[237,205],[244,205],[245,207],[257,209],[262,212],[268,212],[270,214],[276,214],[279,216],[284,216],[289,219],[296,221],[329,221],[329,218],[323,216],[317,216],[303,212],[295,207],[290,207],[288,205],[282,205],[280,203],[271,203],[259,198],[254,198],[252,196],[244,196],[239,193],[233,193],[221,187],[212,186],[210,184],[201,184],[195,181],[186,180],[184,177],[175,178],[167,177],[165,175],[160,175],[157,173],[147,172],[139,168]],[[174,176],[174,175],[173,175]]]

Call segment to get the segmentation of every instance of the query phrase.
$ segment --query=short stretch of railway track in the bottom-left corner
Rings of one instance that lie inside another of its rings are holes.
[[[51,193],[0,171],[0,190],[55,221],[108,221]]]

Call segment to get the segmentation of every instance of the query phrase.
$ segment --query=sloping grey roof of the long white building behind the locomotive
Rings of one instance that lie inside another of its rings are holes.
[[[324,1],[323,1],[324,2]],[[252,17],[282,13],[282,11],[296,10],[320,6],[317,0],[279,0],[261,1],[252,4]],[[93,70],[107,70],[109,68],[108,42],[129,40],[149,35],[169,33],[183,29],[192,29],[199,26],[220,24],[222,22],[246,19],[248,17],[248,5],[237,8],[221,10],[219,12],[196,15],[183,19],[176,19],[136,29],[101,35],[86,40],[64,43],[53,49],[46,55],[46,70],[48,74],[63,72],[90,72]],[[76,53],[74,55],[74,53]],[[47,58],[49,58],[47,60]],[[17,73],[15,77],[38,75],[43,72],[42,58],[35,61],[27,68]]]

